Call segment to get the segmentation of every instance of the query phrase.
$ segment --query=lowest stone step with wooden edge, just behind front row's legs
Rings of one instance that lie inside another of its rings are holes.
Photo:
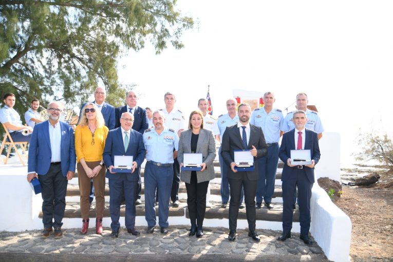
[[[92,205],[92,209],[89,211],[89,217],[94,218],[96,216],[95,206]],[[295,209],[293,211],[293,222],[299,221],[299,211]],[[137,205],[136,207],[136,216],[145,215],[144,202],[142,204]],[[158,207],[156,207],[156,215],[158,216]],[[186,218],[189,217],[189,211],[187,204],[185,202],[180,202],[179,207],[174,208],[170,205],[169,216],[170,217],[183,217],[185,215]],[[125,205],[121,205],[120,207],[120,216],[125,216]],[[221,208],[221,203],[212,202],[211,208],[206,208],[205,219],[223,219],[228,218],[229,216],[229,208],[226,209]],[[282,204],[274,204],[274,208],[268,210],[266,208],[256,209],[256,220],[261,221],[282,221],[283,216],[283,206]],[[42,218],[42,212],[40,212],[39,217]],[[109,213],[109,203],[105,202],[104,209],[104,217],[110,217]],[[64,218],[81,218],[80,206],[78,203],[66,203],[66,209],[64,212]],[[246,209],[239,209],[238,219],[247,219]]]

